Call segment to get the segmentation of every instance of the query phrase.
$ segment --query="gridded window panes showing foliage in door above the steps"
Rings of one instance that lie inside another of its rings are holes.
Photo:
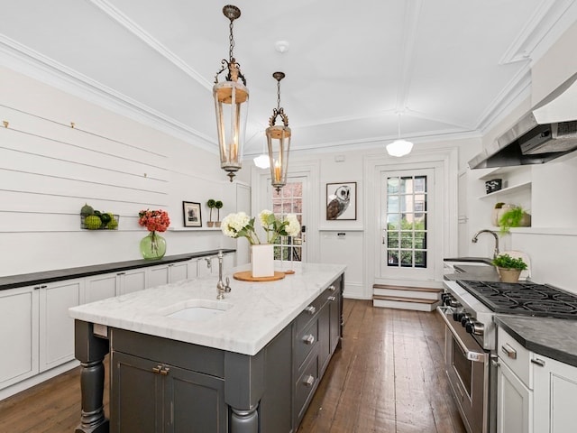
[[[426,176],[388,178],[388,266],[426,268],[426,198]]]

